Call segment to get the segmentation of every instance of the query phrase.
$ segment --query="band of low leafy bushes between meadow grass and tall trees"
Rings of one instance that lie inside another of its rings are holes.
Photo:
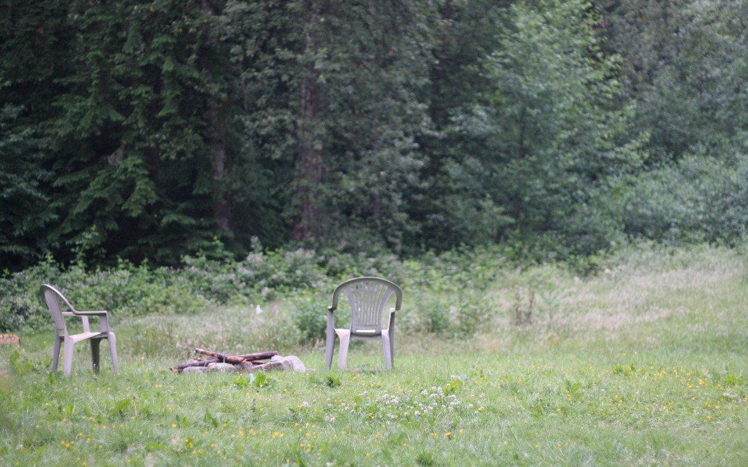
[[[254,309],[281,301],[292,310],[299,341],[314,343],[324,339],[324,310],[338,282],[350,276],[385,276],[408,290],[411,311],[401,318],[401,327],[465,336],[476,332],[480,315],[487,313],[482,295],[505,262],[496,247],[429,254],[419,261],[389,253],[273,250],[251,253],[242,261],[188,256],[174,268],[120,260],[96,270],[81,263],[64,267],[48,257],[0,277],[0,333],[48,330],[52,321],[38,285],[51,283],[81,309],[116,310],[122,318],[184,316],[231,306]]]

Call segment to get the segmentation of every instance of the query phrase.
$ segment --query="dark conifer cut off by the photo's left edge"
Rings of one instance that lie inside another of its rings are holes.
[[[44,123],[67,72],[66,1],[0,1],[0,267],[54,250],[52,173]]]

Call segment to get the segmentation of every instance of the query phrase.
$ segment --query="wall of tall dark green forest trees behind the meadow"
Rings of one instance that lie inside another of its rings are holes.
[[[741,0],[1,0],[0,266],[748,226]]]

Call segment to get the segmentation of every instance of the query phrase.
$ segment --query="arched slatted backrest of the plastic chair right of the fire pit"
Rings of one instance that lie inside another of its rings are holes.
[[[353,333],[360,327],[381,333],[381,313],[392,294],[395,294],[395,309],[400,309],[402,305],[402,290],[393,282],[379,277],[357,277],[338,285],[332,297],[335,308],[340,292],[346,294],[351,306]]]

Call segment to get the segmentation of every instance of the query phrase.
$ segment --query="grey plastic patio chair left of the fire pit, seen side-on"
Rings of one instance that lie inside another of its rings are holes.
[[[52,312],[52,318],[55,320],[55,352],[52,355],[52,371],[57,371],[57,364],[60,359],[60,345],[64,344],[63,350],[63,369],[65,376],[70,376],[73,371],[73,345],[79,341],[89,341],[91,344],[91,361],[93,362],[93,372],[99,372],[99,343],[102,339],[109,341],[109,352],[111,353],[111,365],[114,368],[114,374],[119,373],[117,365],[117,339],[114,333],[109,330],[109,321],[107,312],[79,312],[73,305],[67,301],[67,298],[52,285],[44,284],[40,288],[42,297]],[[64,303],[70,312],[63,312],[61,303]],[[65,317],[79,316],[83,321],[83,333],[70,335],[65,326]],[[91,332],[88,324],[88,317],[98,316],[101,321],[101,331]]]

